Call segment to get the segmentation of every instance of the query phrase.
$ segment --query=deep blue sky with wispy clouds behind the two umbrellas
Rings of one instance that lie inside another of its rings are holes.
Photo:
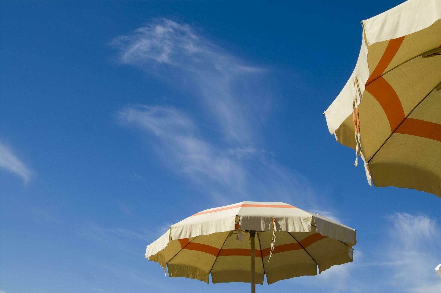
[[[206,208],[282,201],[353,263],[258,292],[435,292],[441,201],[375,188],[321,114],[400,0],[0,2],[0,292],[224,292],[144,259]]]

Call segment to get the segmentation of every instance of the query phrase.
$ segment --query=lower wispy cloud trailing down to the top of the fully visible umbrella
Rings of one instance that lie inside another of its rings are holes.
[[[259,148],[223,148],[209,143],[197,124],[172,107],[130,106],[120,121],[137,125],[174,170],[189,176],[219,204],[235,200],[285,200],[311,204],[313,190],[301,174],[290,171]]]

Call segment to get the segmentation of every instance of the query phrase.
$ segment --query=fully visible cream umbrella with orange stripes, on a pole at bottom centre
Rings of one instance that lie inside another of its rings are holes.
[[[281,202],[244,201],[200,211],[147,246],[170,277],[268,284],[352,261],[355,230]]]

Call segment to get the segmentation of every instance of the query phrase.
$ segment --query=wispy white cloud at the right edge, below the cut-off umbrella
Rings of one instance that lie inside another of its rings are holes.
[[[436,219],[407,213],[395,213],[386,219],[389,231],[378,239],[382,245],[370,252],[370,262],[356,266],[376,267],[372,270],[381,270],[390,278],[382,283],[378,280],[375,285],[363,280],[365,286],[371,286],[370,291],[384,288],[381,292],[388,292],[388,286],[408,293],[441,292],[441,282],[434,272],[441,259],[441,227]]]

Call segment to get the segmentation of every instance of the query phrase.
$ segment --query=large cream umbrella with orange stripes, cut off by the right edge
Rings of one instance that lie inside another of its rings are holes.
[[[361,156],[369,184],[441,197],[441,1],[409,0],[362,27],[329,131]]]

